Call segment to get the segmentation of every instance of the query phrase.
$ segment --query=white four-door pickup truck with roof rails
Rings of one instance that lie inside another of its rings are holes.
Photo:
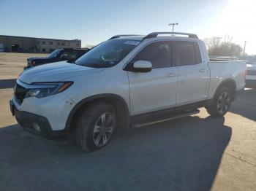
[[[209,61],[195,34],[113,36],[75,63],[23,71],[10,101],[26,129],[75,136],[85,151],[104,147],[116,128],[196,114],[223,116],[244,90],[244,61]]]

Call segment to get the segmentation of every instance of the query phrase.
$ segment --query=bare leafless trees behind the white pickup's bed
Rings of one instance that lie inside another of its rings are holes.
[[[232,36],[226,35],[222,38],[211,37],[205,39],[208,54],[213,56],[236,56],[241,57],[242,47],[233,42]]]

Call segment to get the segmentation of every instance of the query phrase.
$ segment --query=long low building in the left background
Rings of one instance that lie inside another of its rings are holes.
[[[10,52],[52,52],[57,48],[81,48],[81,40],[43,39],[0,35],[0,44]]]

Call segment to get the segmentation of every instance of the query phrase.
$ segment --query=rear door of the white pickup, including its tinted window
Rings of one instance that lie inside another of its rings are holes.
[[[174,64],[178,70],[177,106],[205,101],[210,74],[197,42],[174,42]]]

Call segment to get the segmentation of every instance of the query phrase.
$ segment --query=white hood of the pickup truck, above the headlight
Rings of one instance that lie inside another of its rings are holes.
[[[33,82],[60,82],[69,77],[91,74],[104,69],[94,69],[61,61],[26,69],[18,79],[27,84]]]

